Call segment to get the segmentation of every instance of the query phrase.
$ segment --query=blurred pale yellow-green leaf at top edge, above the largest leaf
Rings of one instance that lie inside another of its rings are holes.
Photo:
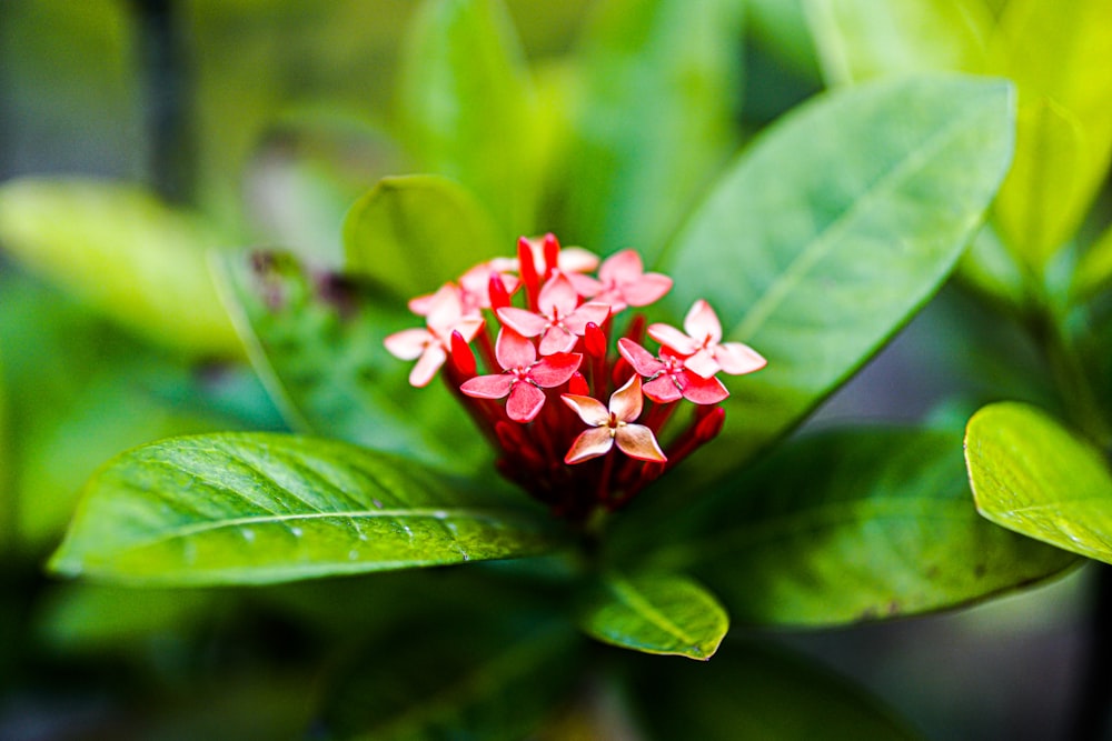
[[[987,63],[993,18],[983,0],[805,0],[824,74],[848,84],[886,74]]]

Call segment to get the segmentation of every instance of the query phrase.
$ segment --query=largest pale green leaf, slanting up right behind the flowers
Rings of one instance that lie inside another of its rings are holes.
[[[677,316],[708,300],[767,368],[732,383],[729,462],[853,373],[942,283],[1012,151],[1012,88],[881,82],[801,107],[754,142],[664,257]],[[724,457],[725,458],[725,457]],[[711,468],[705,473],[712,472]]]

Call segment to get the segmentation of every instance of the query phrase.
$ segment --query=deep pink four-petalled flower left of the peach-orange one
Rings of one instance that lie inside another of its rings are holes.
[[[533,420],[545,405],[545,392],[540,389],[567,383],[583,361],[578,353],[560,352],[538,362],[533,342],[505,328],[498,332],[494,352],[506,372],[473,378],[459,390],[477,399],[502,399],[509,394],[506,413],[515,422]]]

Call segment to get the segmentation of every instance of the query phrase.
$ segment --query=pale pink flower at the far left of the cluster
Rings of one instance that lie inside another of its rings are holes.
[[[464,314],[459,291],[450,283],[434,293],[427,307],[425,329],[405,329],[383,341],[395,358],[417,361],[409,372],[409,383],[418,388],[428,385],[448,359],[454,331],[470,342],[483,327],[481,317]]]

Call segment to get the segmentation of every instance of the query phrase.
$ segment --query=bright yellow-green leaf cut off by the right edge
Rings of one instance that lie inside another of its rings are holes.
[[[1112,563],[1112,474],[1092,443],[1034,407],[1000,402],[970,419],[965,462],[984,517]]]

